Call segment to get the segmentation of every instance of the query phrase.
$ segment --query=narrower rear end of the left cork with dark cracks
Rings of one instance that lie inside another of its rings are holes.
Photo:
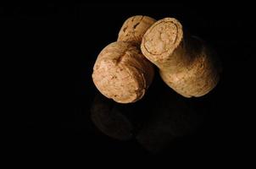
[[[140,46],[143,35],[155,22],[155,19],[142,15],[136,15],[126,19],[120,29],[117,41],[130,41]]]

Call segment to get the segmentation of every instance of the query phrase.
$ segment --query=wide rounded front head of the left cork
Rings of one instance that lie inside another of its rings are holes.
[[[120,103],[142,98],[153,80],[153,66],[130,42],[116,41],[97,57],[92,79],[103,95]]]

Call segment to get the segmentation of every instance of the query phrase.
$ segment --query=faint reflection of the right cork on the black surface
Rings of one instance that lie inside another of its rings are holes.
[[[149,151],[164,150],[176,138],[193,134],[201,121],[191,102],[174,93],[162,93],[155,104],[151,117],[136,135]]]

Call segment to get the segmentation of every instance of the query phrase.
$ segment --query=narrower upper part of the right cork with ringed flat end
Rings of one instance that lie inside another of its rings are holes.
[[[182,25],[177,19],[161,19],[142,38],[142,53],[160,69],[181,72],[190,62],[183,43]],[[171,57],[170,57],[171,56]]]

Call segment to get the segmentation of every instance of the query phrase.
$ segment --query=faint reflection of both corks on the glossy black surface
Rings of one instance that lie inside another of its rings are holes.
[[[205,112],[202,105],[202,101],[186,99],[168,88],[153,90],[147,99],[128,105],[97,94],[91,117],[103,134],[114,139],[133,138],[144,149],[159,152],[175,139],[197,131]]]

